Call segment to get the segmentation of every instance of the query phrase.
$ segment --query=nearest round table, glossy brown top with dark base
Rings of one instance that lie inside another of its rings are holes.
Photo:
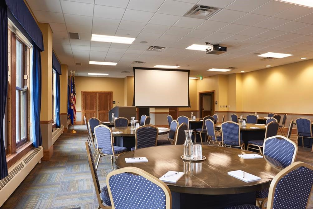
[[[120,155],[117,168],[134,166],[156,178],[167,171],[185,174],[176,183],[167,183],[172,193],[172,208],[224,208],[240,204],[255,204],[255,192],[269,188],[282,165],[264,156],[259,159],[242,159],[239,154],[255,153],[221,146],[202,145],[204,161],[185,161],[183,145],[163,145],[138,149]],[[126,163],[128,157],[146,157],[148,162]],[[242,170],[259,176],[261,180],[246,183],[228,175],[228,171]]]

